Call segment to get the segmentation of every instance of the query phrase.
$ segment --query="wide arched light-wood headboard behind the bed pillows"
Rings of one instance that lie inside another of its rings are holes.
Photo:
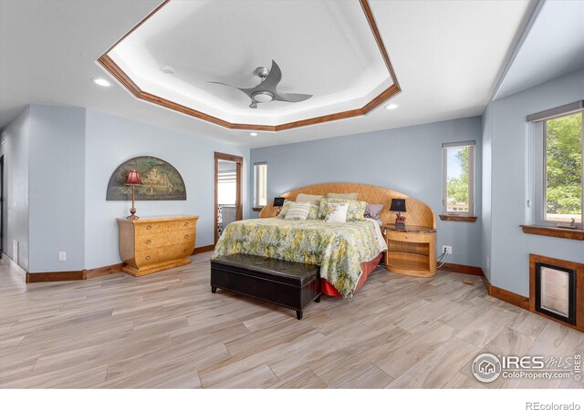
[[[405,223],[407,225],[428,226],[436,228],[436,215],[433,210],[425,203],[414,200],[395,190],[388,190],[387,188],[376,187],[374,185],[353,184],[353,183],[328,183],[308,185],[308,187],[297,188],[289,192],[283,193],[281,197],[287,200],[296,200],[299,193],[309,195],[327,195],[329,192],[334,193],[350,193],[357,192],[357,199],[364,200],[368,203],[381,203],[385,208],[381,210],[381,220],[383,224],[395,222],[395,213],[391,212],[390,205],[392,198],[404,198],[406,212],[401,212],[405,216]],[[274,218],[276,216],[276,209],[273,207],[274,201],[269,202],[259,213],[260,218]]]

